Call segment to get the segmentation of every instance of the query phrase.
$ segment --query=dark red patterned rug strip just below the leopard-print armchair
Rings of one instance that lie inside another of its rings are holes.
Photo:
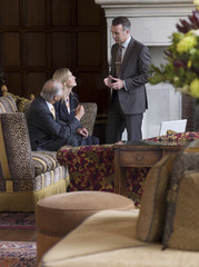
[[[34,212],[0,212],[0,229],[37,229]]]

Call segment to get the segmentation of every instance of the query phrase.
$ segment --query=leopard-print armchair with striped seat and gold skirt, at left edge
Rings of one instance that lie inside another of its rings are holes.
[[[11,96],[0,97],[0,211],[33,211],[39,199],[68,185],[57,152],[31,151],[24,113]]]

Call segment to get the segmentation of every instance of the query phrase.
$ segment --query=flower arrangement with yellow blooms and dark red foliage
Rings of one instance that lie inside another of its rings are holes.
[[[189,21],[180,20],[177,32],[171,36],[171,44],[165,51],[166,65],[152,65],[151,85],[170,82],[177,91],[199,99],[199,0]]]

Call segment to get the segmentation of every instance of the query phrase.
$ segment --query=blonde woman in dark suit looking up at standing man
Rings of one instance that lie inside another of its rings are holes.
[[[83,106],[79,105],[79,97],[72,92],[72,88],[77,86],[76,77],[68,68],[58,69],[53,76],[53,80],[58,80],[63,85],[63,95],[60,101],[54,103],[56,115],[63,123],[70,125],[73,120],[79,120],[79,127],[70,137],[71,146],[98,145],[97,137],[88,136],[88,130],[81,126],[80,119],[84,115]]]

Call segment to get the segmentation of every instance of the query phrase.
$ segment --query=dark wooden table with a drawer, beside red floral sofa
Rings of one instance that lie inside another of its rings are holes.
[[[152,167],[165,155],[176,154],[181,149],[181,145],[173,144],[115,145],[115,192],[126,195],[127,167]]]

